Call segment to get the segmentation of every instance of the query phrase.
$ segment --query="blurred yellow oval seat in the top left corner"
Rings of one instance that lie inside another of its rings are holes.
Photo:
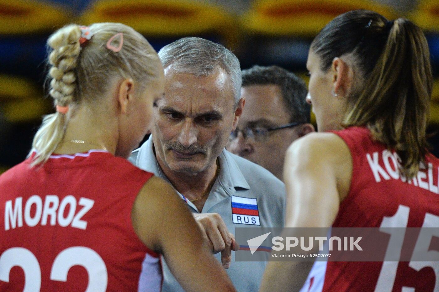
[[[16,35],[53,31],[71,20],[64,8],[37,0],[2,0],[0,2],[0,34]]]

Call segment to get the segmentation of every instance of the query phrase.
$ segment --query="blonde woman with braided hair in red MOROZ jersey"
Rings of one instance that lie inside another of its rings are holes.
[[[47,43],[57,112],[0,176],[0,291],[160,291],[160,254],[185,289],[234,291],[172,187],[126,160],[164,92],[154,49],[118,23]]]

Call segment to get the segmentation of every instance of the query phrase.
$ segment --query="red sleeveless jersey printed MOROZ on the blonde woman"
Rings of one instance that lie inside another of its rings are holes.
[[[153,174],[104,150],[30,162],[0,176],[0,291],[160,290],[131,222]]]

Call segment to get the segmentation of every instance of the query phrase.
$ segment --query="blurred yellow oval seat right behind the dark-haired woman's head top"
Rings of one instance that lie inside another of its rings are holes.
[[[255,0],[242,25],[250,33],[312,37],[337,15],[356,9],[391,19],[397,15],[391,7],[371,0]]]

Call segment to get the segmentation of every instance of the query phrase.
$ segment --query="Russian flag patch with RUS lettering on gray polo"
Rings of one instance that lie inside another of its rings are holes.
[[[237,224],[261,225],[257,200],[232,196],[232,220]]]

